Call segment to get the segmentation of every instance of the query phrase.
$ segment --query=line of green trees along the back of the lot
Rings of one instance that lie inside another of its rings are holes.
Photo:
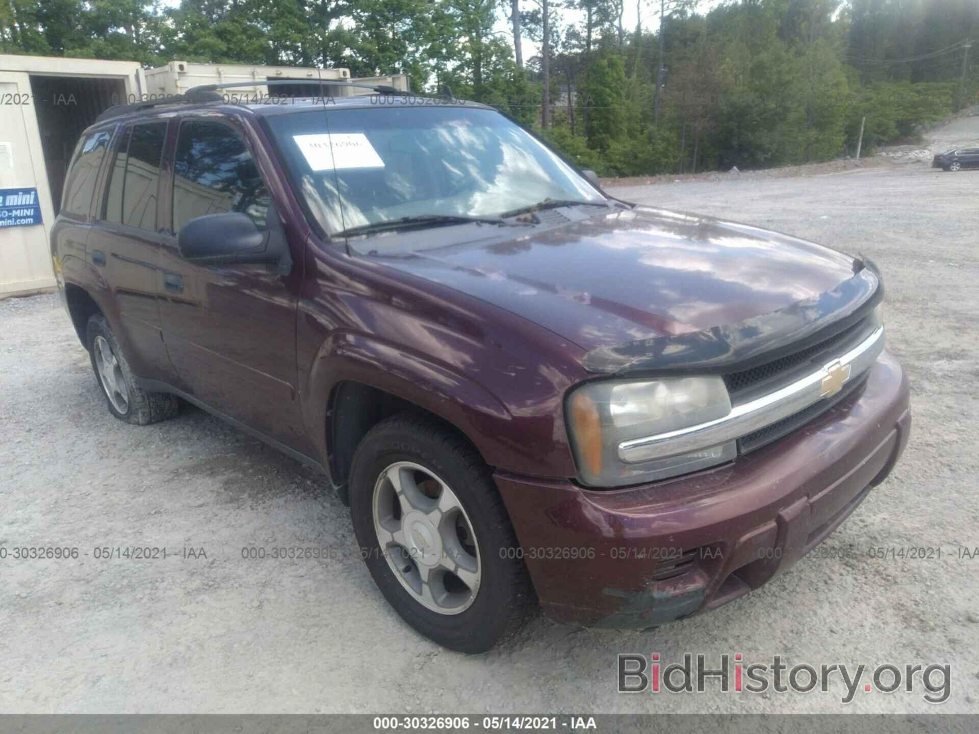
[[[979,94],[979,65],[961,75],[976,0],[635,0],[627,33],[631,2],[0,0],[0,51],[406,73],[553,122],[572,160],[617,175],[823,161],[854,150],[864,115],[867,150]],[[522,69],[525,37],[541,54]]]

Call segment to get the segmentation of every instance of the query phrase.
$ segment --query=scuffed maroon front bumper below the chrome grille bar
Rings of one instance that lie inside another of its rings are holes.
[[[908,379],[888,352],[789,436],[714,470],[618,490],[497,473],[544,612],[649,627],[715,609],[792,566],[890,473]]]

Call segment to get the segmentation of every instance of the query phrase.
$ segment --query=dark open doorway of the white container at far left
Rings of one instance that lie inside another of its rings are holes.
[[[97,116],[125,102],[125,82],[119,78],[30,74],[30,92],[41,134],[51,202],[57,216],[78,138]]]

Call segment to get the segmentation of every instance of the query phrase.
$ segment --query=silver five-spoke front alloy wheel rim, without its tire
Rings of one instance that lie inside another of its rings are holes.
[[[372,507],[381,552],[415,601],[443,615],[469,609],[482,577],[479,544],[448,484],[399,461],[378,477]]]

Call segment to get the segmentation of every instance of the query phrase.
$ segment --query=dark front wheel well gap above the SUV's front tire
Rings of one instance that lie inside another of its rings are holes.
[[[441,423],[446,430],[462,437],[477,453],[479,452],[479,448],[469,436],[432,411],[385,390],[352,381],[343,382],[334,388],[330,401],[330,411],[327,414],[327,446],[330,451],[330,472],[333,482],[339,487],[338,493],[345,504],[350,503],[348,490],[350,464],[360,440],[381,421],[405,411],[429,416]]]

